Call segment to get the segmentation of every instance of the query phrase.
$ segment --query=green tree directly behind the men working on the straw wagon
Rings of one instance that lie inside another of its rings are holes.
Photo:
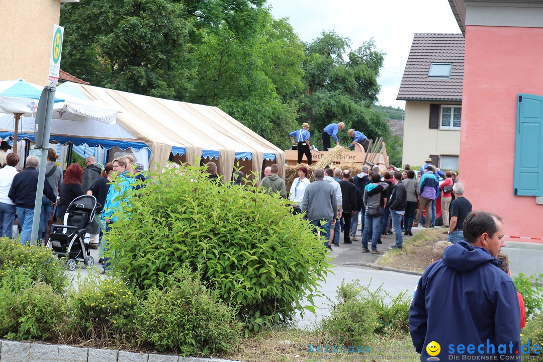
[[[380,91],[377,77],[384,53],[375,50],[373,39],[346,54],[349,49],[349,39],[335,31],[323,32],[307,45],[304,72],[308,87],[299,98],[299,122],[311,122],[317,139],[327,124],[338,122],[368,138],[390,133],[380,113],[371,108]],[[351,142],[345,131],[339,137],[344,145]],[[320,144],[315,138],[312,141]]]

